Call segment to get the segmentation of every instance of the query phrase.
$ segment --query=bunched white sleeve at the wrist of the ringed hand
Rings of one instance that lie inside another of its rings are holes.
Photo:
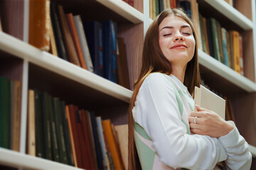
[[[228,169],[250,169],[252,154],[249,151],[249,146],[238,132],[235,123],[229,122],[233,124],[234,129],[228,135],[218,138],[228,154],[225,164]]]

